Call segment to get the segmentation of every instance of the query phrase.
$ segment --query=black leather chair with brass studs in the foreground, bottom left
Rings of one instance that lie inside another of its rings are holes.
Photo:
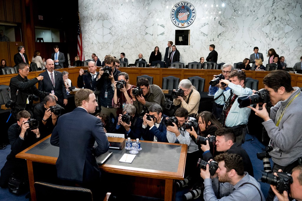
[[[93,200],[92,192],[81,187],[61,186],[52,183],[37,181],[34,183],[37,201],[66,201],[66,200]],[[111,193],[107,193],[107,201]]]

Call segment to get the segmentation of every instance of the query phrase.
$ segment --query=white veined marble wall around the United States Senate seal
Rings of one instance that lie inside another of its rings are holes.
[[[162,59],[167,41],[175,41],[172,7],[179,0],[79,0],[85,59],[96,53],[100,60],[124,52],[129,63],[138,54],[149,60],[155,46]],[[288,67],[302,56],[302,2],[300,0],[190,0],[196,9],[190,45],[177,46],[180,62],[207,57],[215,44],[220,62],[242,62],[258,46],[268,63],[268,49],[285,57]]]

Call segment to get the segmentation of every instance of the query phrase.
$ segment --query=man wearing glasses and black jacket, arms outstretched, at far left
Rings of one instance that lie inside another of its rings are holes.
[[[21,62],[18,64],[19,74],[10,81],[11,90],[11,100],[15,101],[15,106],[12,108],[12,114],[16,119],[17,113],[22,110],[27,110],[33,117],[32,104],[33,95],[39,97],[45,97],[47,95],[52,95],[48,92],[40,91],[36,88],[36,84],[43,80],[43,76],[39,75],[37,78],[32,80],[27,79],[29,72],[29,66],[27,63]],[[56,97],[55,95],[53,95]],[[56,97],[57,99],[57,97]]]

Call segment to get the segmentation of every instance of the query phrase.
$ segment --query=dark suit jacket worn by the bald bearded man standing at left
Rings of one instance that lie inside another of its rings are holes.
[[[65,84],[63,81],[62,73],[54,70],[53,74],[54,74],[54,80],[55,80],[54,87],[53,87],[53,84],[51,83],[50,77],[46,70],[43,73],[40,73],[40,75],[42,75],[44,78],[43,78],[43,80],[39,81],[38,88],[40,91],[45,91],[48,93],[51,93],[51,90],[54,90],[55,95],[58,97],[57,103],[59,105],[63,105],[63,103],[64,103],[63,99],[67,99],[67,94],[66,94],[66,87],[65,87]]]

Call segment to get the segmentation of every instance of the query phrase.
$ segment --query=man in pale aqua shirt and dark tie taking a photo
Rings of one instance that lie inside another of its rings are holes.
[[[219,90],[214,95],[214,98],[223,93],[224,97],[220,96],[215,100],[217,104],[224,104],[223,112],[220,115],[220,123],[226,128],[231,128],[236,134],[236,142],[239,144],[244,143],[246,135],[246,124],[249,119],[251,109],[243,107],[239,108],[238,97],[243,95],[252,95],[252,89],[245,87],[246,74],[244,71],[232,71],[229,75],[229,80],[220,80]],[[230,87],[229,90],[224,91],[226,86]]]

